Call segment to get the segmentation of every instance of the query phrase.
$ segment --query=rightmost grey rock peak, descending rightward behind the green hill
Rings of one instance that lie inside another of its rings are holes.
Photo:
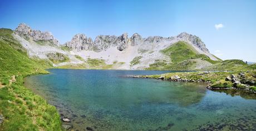
[[[198,47],[200,50],[204,51],[205,53],[209,53],[209,50],[206,48],[203,41],[201,41],[201,39],[196,35],[191,35],[186,32],[183,32],[177,35],[176,38],[178,38],[179,40],[188,41],[191,44]]]

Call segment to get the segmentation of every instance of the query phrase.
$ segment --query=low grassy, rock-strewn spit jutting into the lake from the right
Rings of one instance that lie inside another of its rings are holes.
[[[132,75],[134,78],[156,78],[167,81],[206,83],[210,90],[244,90],[256,93],[256,76],[253,71],[240,72],[175,72],[161,75]]]

